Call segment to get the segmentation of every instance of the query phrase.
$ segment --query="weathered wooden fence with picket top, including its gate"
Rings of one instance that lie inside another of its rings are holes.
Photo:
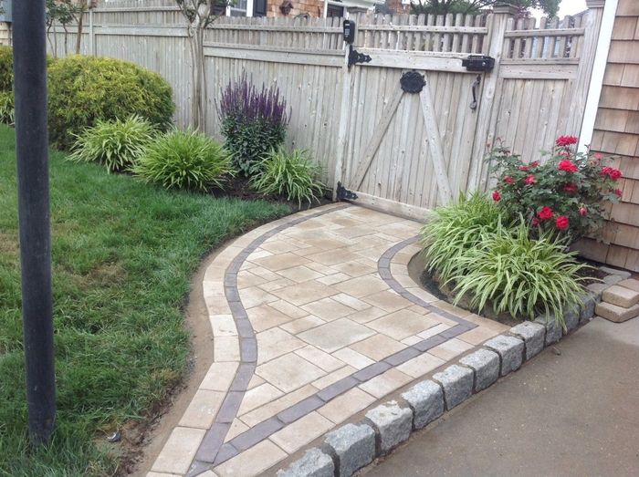
[[[167,0],[109,2],[85,22],[82,53],[149,67],[173,85],[176,122],[190,123],[191,59],[183,18]],[[487,149],[502,140],[527,161],[561,134],[579,135],[602,8],[559,20],[487,16],[351,17],[368,63],[347,66],[340,18],[222,17],[206,34],[206,131],[215,101],[248,73],[277,84],[292,109],[288,145],[308,149],[325,180],[361,202],[409,216],[489,185]],[[51,33],[63,56],[64,34]],[[75,30],[68,28],[68,49]],[[68,53],[68,51],[67,51]],[[467,71],[468,55],[495,58]],[[415,70],[419,93],[400,79]],[[473,106],[471,108],[471,105]]]

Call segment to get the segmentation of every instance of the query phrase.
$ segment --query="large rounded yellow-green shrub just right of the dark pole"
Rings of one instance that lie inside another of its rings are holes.
[[[68,149],[98,120],[139,115],[160,130],[171,124],[171,86],[157,73],[107,57],[72,56],[48,68],[49,139]]]

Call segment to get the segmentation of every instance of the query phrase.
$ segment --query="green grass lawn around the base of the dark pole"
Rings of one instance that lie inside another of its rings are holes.
[[[0,126],[0,475],[110,475],[104,436],[141,419],[182,376],[181,308],[203,255],[283,205],[165,192],[52,152],[58,429],[28,446],[14,130]]]

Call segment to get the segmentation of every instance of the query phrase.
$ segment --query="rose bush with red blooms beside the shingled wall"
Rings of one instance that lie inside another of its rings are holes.
[[[619,201],[621,171],[605,166],[601,154],[574,153],[576,142],[560,137],[544,163],[524,164],[503,147],[490,156],[498,172],[493,199],[508,217],[522,215],[533,235],[547,231],[574,242],[602,227],[604,202]]]

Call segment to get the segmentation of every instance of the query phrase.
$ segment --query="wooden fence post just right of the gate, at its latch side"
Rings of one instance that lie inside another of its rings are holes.
[[[499,99],[499,66],[504,48],[504,34],[508,20],[517,14],[517,9],[510,5],[496,5],[493,14],[488,16],[488,47],[484,47],[484,53],[495,58],[494,69],[484,76],[484,88],[482,89],[479,108],[477,109],[477,129],[471,156],[471,171],[468,178],[468,191],[483,190],[486,187],[486,167],[483,165],[487,152],[487,144],[492,144],[495,134],[495,118],[493,111]]]

